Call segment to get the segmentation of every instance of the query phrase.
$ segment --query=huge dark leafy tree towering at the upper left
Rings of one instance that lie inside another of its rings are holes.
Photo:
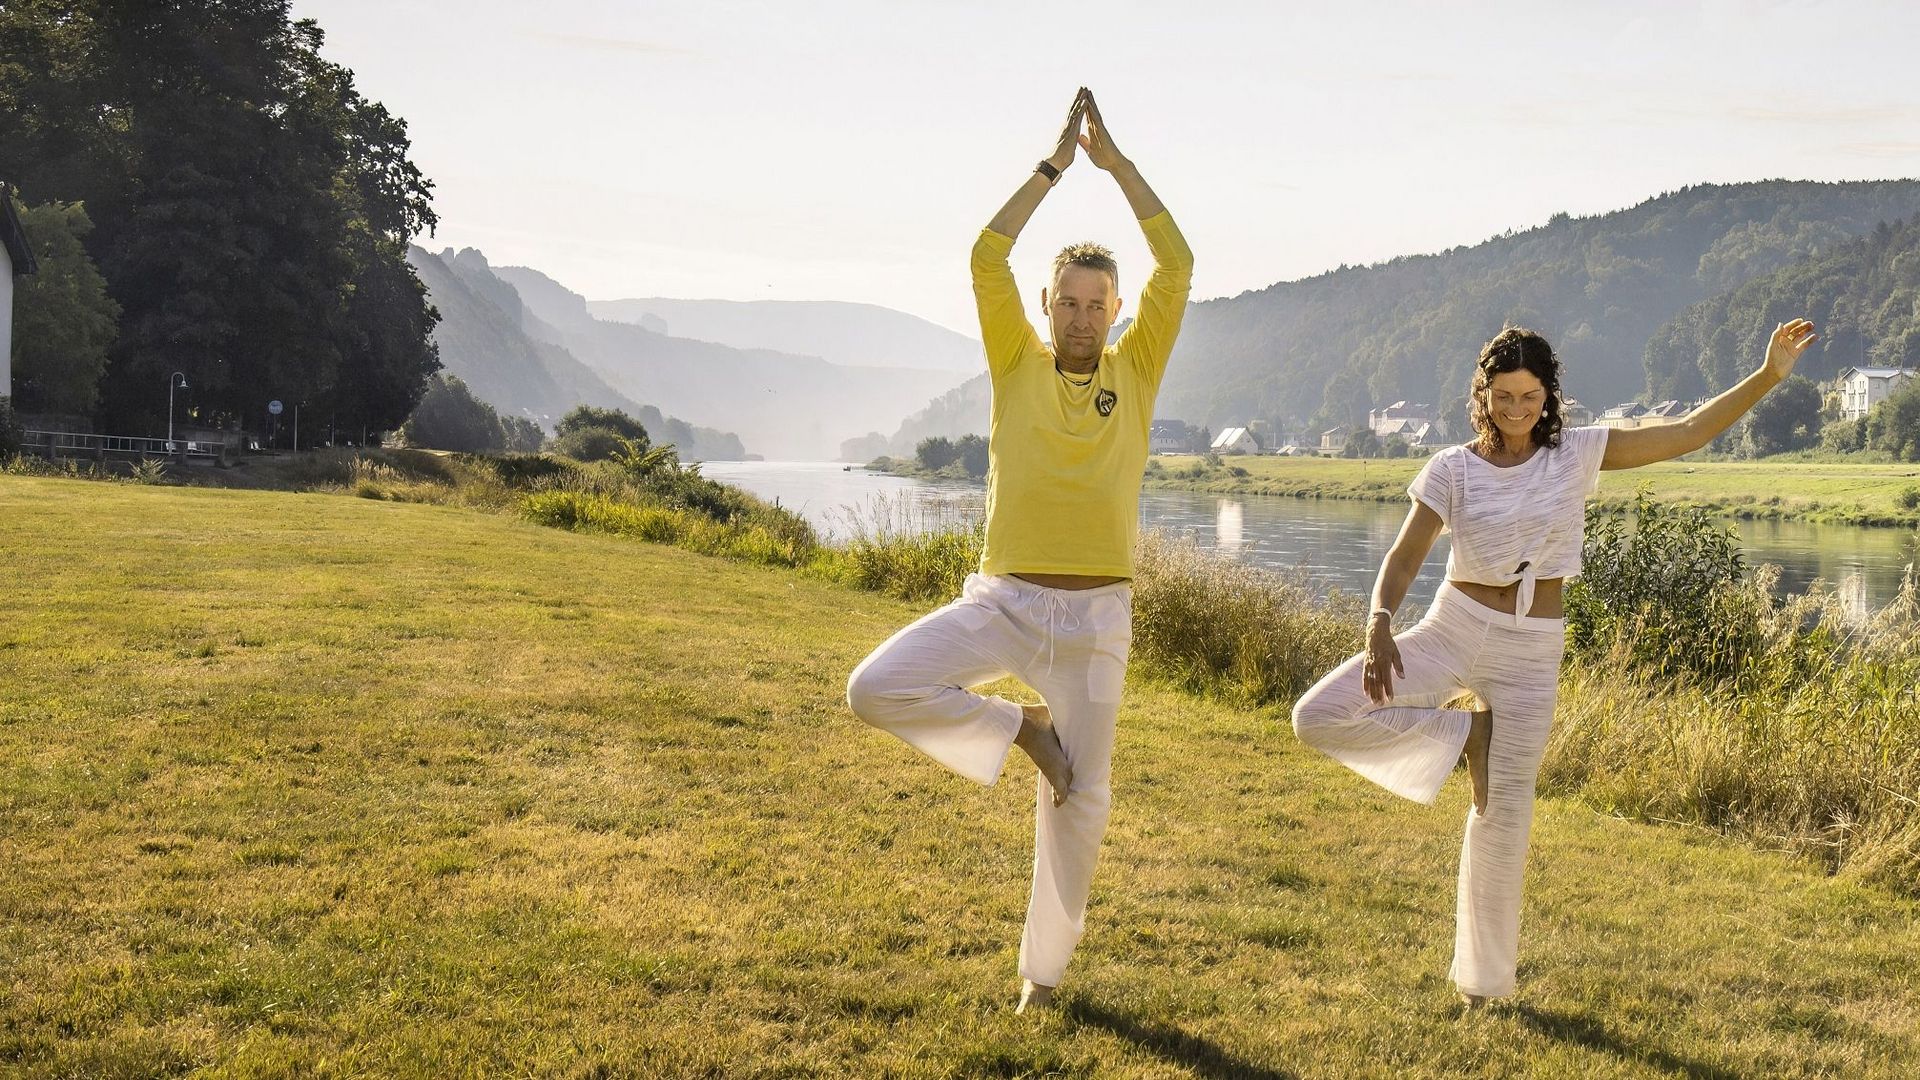
[[[184,371],[202,421],[257,421],[282,398],[380,430],[438,369],[405,263],[434,225],[430,184],[405,123],[323,40],[286,0],[0,6],[8,167],[29,200],[86,202],[123,309],[111,427],[154,427]]]

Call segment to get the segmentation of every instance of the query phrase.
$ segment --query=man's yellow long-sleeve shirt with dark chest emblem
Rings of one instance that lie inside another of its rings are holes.
[[[1165,211],[1140,221],[1154,273],[1092,380],[1068,377],[1020,307],[1014,238],[981,229],[973,298],[993,379],[985,575],[1133,577],[1154,396],[1187,313],[1194,258]]]

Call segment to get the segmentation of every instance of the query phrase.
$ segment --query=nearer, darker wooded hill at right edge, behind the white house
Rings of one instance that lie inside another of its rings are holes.
[[[1797,375],[1920,367],[1920,217],[1880,225],[1680,311],[1647,342],[1647,388],[1653,398],[1724,390],[1753,369],[1774,325],[1795,315],[1820,329]]]

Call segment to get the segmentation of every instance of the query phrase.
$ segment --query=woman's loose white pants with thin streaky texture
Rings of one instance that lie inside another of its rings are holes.
[[[1442,584],[1427,617],[1394,638],[1405,676],[1375,705],[1363,655],[1336,667],[1294,705],[1300,738],[1396,796],[1432,803],[1459,761],[1473,713],[1438,709],[1463,692],[1494,709],[1486,813],[1467,807],[1452,978],[1465,994],[1513,994],[1521,876],[1534,822],[1534,778],[1553,724],[1563,619],[1519,619]]]

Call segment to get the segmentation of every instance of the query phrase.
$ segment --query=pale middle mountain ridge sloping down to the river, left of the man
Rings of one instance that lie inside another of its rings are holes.
[[[668,336],[595,319],[576,292],[528,267],[499,267],[557,344],[620,392],[697,423],[724,425],[766,457],[833,459],[841,442],[891,429],[964,375],[845,367],[816,356]]]

